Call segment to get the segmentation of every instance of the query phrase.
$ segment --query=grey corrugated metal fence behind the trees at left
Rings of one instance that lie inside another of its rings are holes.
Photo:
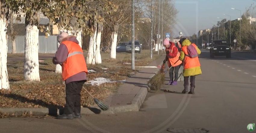
[[[16,36],[16,53],[24,53],[25,36]],[[55,53],[58,49],[57,36],[39,36],[38,53]],[[11,37],[8,36],[8,53],[12,52]]]

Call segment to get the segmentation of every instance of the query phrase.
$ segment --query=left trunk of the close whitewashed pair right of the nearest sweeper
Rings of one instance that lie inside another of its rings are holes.
[[[97,20],[94,21],[93,33],[90,37],[88,56],[86,57],[86,64],[95,64],[96,56],[96,37],[97,37]]]

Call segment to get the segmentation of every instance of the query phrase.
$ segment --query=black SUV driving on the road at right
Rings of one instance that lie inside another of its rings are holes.
[[[231,48],[228,45],[227,40],[214,40],[210,48],[210,58],[214,56],[226,56],[231,58]]]

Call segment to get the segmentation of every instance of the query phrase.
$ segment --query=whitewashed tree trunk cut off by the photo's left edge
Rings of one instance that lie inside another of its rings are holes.
[[[0,17],[0,42],[0,89],[10,89],[7,72],[7,19],[2,15]]]

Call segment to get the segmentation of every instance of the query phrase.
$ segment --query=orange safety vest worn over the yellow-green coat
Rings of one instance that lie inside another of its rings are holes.
[[[190,44],[190,45],[193,45],[195,48],[197,48],[195,44]],[[191,58],[189,56],[186,56],[186,55],[188,55],[187,46],[183,46],[181,50],[185,53],[185,56],[184,56],[184,59],[183,59],[184,69],[201,66],[200,62],[199,62],[199,59],[198,59],[198,56],[195,57],[195,58]]]

